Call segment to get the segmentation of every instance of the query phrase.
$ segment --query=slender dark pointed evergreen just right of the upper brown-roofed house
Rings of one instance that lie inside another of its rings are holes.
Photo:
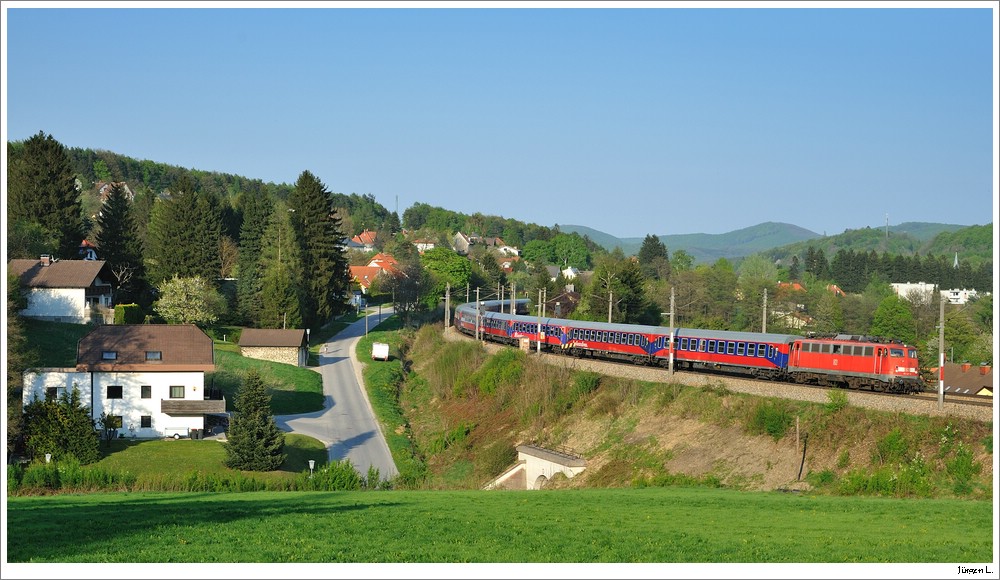
[[[115,277],[115,303],[136,302],[145,281],[142,245],[125,188],[115,183],[97,214],[98,258]]]

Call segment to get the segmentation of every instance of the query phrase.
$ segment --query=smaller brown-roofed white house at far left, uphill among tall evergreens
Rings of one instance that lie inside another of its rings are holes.
[[[22,316],[84,324],[110,322],[111,272],[104,260],[11,260],[7,272],[20,278],[28,298]]]

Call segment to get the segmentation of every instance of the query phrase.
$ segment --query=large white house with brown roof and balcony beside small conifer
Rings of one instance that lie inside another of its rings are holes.
[[[98,326],[80,339],[75,368],[24,372],[25,405],[80,391],[91,418],[118,418],[119,433],[140,438],[186,436],[226,401],[206,389],[215,369],[212,339],[193,324]]]

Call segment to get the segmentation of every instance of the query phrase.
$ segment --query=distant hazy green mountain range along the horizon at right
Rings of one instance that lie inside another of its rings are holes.
[[[840,248],[858,251],[874,249],[878,252],[901,254],[926,252],[928,248],[941,251],[941,248],[934,248],[933,245],[934,239],[939,234],[953,233],[969,227],[956,224],[906,222],[889,226],[888,237],[884,227],[846,230],[842,234],[823,236],[792,224],[765,222],[724,234],[673,234],[657,237],[671,254],[677,250],[684,250],[695,259],[695,262],[712,263],[719,258],[735,260],[761,252],[775,258],[783,258],[793,253],[804,252],[810,245],[822,248],[828,259],[832,258]],[[992,224],[971,227],[989,227],[992,237]],[[619,247],[626,255],[637,254],[644,239],[617,238],[586,226],[560,224],[559,229],[567,233],[576,232],[581,236],[585,235],[607,250]],[[976,253],[981,251],[981,248],[975,250]],[[989,255],[992,255],[991,251]]]

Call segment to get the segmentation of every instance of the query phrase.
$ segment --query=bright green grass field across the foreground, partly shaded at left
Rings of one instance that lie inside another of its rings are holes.
[[[60,495],[7,516],[10,562],[993,559],[987,502],[719,489]]]

